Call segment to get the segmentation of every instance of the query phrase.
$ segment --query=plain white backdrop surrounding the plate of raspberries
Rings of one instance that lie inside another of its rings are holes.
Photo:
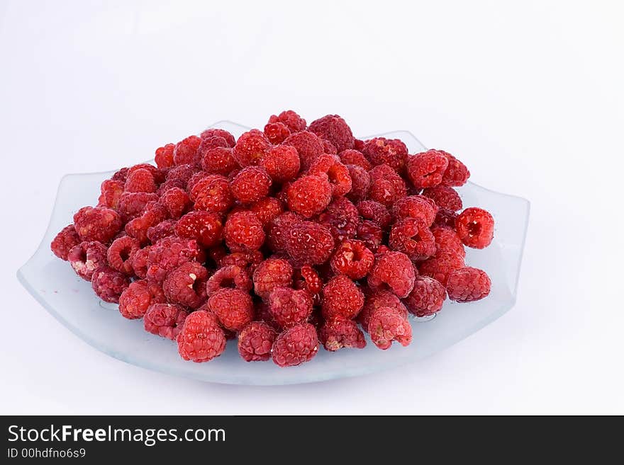
[[[618,4],[0,0],[0,413],[624,413]],[[18,285],[65,173],[286,108],[527,197],[515,308],[408,367],[221,386],[113,360]]]

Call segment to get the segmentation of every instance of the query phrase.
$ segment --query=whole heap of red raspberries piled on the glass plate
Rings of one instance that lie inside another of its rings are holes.
[[[494,219],[464,209],[469,178],[442,150],[355,139],[345,120],[294,111],[236,140],[208,129],[122,168],[52,241],[52,252],[145,331],[208,362],[238,339],[280,367],[326,350],[408,345],[410,314],[486,297]]]

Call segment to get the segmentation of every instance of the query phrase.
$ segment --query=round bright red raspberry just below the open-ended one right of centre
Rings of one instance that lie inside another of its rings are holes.
[[[364,293],[345,275],[338,275],[323,287],[321,310],[324,318],[355,318],[364,306]]]

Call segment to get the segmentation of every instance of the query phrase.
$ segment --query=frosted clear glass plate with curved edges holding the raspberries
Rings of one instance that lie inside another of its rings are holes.
[[[229,121],[215,123],[238,137],[247,127]],[[407,131],[379,134],[399,138],[411,154],[425,149]],[[296,384],[354,377],[419,360],[457,343],[479,331],[511,309],[516,302],[520,261],[525,243],[529,202],[520,197],[496,193],[473,183],[459,188],[464,205],[488,209],[496,219],[494,241],[479,251],[467,249],[466,262],[489,273],[489,297],[471,304],[445,302],[435,318],[413,318],[413,342],[406,348],[393,344],[379,350],[367,340],[362,350],[326,352],[299,367],[279,368],[272,362],[244,362],[235,341],[217,359],[208,363],[182,360],[171,340],[143,330],[143,321],[123,318],[116,305],[96,297],[89,282],[77,277],[68,263],[50,251],[50,241],[72,222],[72,215],[83,205],[96,201],[99,185],[111,173],[70,174],[62,178],[52,218],[43,241],[32,258],[17,272],[18,279],[33,297],[94,348],[124,362],[158,372],[225,384]]]

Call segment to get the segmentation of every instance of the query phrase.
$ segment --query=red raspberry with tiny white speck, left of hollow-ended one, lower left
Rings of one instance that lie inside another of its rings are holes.
[[[199,263],[182,263],[178,268],[169,271],[162,283],[167,302],[196,309],[206,299],[207,278],[208,270]]]

